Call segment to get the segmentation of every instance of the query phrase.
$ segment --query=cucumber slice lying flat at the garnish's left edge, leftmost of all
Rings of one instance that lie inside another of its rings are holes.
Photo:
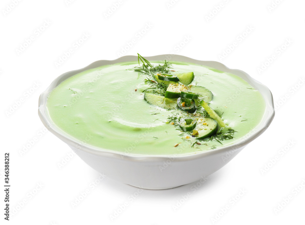
[[[163,109],[177,109],[177,99],[166,99],[161,95],[145,93],[144,100],[146,100],[151,105],[159,106]]]

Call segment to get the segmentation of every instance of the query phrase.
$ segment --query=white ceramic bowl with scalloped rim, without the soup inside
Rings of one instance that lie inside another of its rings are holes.
[[[66,72],[56,78],[48,89],[40,95],[38,109],[39,117],[48,130],[66,142],[82,160],[96,171],[105,173],[105,175],[110,178],[145,189],[169,189],[195,182],[214,173],[227,164],[247,144],[263,133],[274,117],[273,99],[270,90],[243,71],[229,69],[219,62],[199,61],[181,55],[158,55],[145,58],[149,61],[169,59],[170,61],[206,65],[220,71],[230,72],[243,78],[263,95],[266,102],[264,118],[255,130],[252,130],[252,132],[246,135],[242,140],[230,146],[183,156],[125,155],[124,153],[82,144],[80,140],[64,133],[56,124],[53,124],[49,118],[46,101],[49,92],[51,92],[53,88],[74,74],[102,65],[137,61],[138,57],[124,56],[112,61],[100,60],[82,69]],[[165,167],[166,169],[160,169]]]

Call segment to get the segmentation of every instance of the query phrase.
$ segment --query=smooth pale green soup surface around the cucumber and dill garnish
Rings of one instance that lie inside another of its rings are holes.
[[[237,131],[233,139],[201,141],[199,145],[196,138],[166,123],[177,110],[162,109],[144,100],[146,76],[131,70],[138,62],[97,67],[64,80],[48,96],[49,117],[83,144],[149,155],[195,154],[224,147],[239,141],[260,123],[264,99],[245,80],[198,64],[170,63],[176,72],[194,72],[192,83],[213,93],[210,107]]]

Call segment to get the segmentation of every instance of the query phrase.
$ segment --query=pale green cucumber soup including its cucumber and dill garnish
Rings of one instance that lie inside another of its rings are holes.
[[[100,149],[185,155],[234,144],[263,118],[262,95],[234,74],[138,57],[62,81],[46,103],[52,122]]]

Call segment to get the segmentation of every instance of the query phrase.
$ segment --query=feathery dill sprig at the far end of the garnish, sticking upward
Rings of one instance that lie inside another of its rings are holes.
[[[140,66],[140,61],[142,62],[142,66]],[[147,59],[138,54],[138,67],[134,67],[133,70],[139,72],[141,74],[152,76],[156,73],[169,73],[170,72],[170,64],[164,60],[163,65],[153,66]]]

